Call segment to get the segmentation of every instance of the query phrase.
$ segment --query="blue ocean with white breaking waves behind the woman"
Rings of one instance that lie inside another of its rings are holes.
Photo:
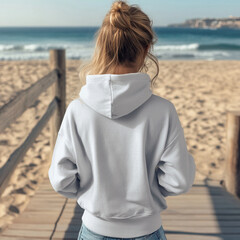
[[[47,59],[64,48],[68,59],[89,59],[98,27],[1,27],[0,60]],[[163,60],[240,60],[240,30],[154,27],[153,53]]]

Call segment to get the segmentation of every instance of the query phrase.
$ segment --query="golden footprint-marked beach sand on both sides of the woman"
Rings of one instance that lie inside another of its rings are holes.
[[[67,60],[67,105],[81,85],[78,60]],[[174,103],[196,165],[196,180],[221,180],[226,155],[226,112],[240,109],[240,61],[160,61],[153,93]],[[150,68],[151,69],[151,68]],[[50,71],[48,60],[1,61],[0,107]],[[150,71],[150,75],[153,73]],[[51,89],[0,133],[0,167],[25,140],[51,101]],[[0,231],[11,224],[48,176],[49,123],[17,166],[0,200]]]

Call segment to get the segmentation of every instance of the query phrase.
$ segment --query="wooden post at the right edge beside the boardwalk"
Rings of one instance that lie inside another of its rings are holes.
[[[240,111],[227,112],[227,158],[224,186],[240,198]]]

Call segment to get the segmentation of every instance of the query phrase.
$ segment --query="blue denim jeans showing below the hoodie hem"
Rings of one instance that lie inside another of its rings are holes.
[[[99,235],[88,229],[83,223],[80,228],[77,240],[167,240],[163,226],[153,233],[136,238],[113,238]]]

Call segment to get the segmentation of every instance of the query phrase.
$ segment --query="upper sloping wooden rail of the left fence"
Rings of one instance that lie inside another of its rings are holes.
[[[39,95],[58,79],[58,70],[53,69],[29,88],[24,89],[8,103],[0,108],[0,132],[21,116],[27,108],[33,105]]]

